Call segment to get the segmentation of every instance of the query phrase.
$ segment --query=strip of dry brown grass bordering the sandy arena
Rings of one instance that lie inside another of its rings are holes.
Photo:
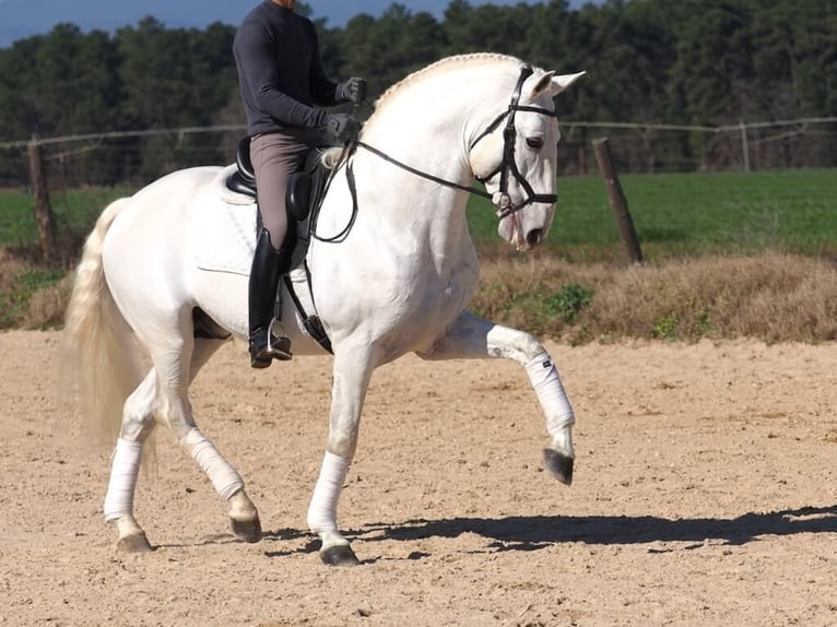
[[[622,338],[837,339],[837,264],[822,258],[765,252],[630,268],[570,263],[549,252],[486,257],[473,308],[543,338],[576,344]],[[0,250],[3,326],[60,326],[71,275],[27,293],[32,273],[31,264]]]

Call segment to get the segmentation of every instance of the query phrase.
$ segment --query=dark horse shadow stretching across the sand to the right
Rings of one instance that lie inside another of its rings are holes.
[[[721,541],[743,545],[763,535],[837,533],[837,505],[803,507],[771,512],[750,512],[732,519],[684,518],[671,520],[652,516],[532,516],[409,520],[375,523],[354,534],[363,542],[457,537],[475,533],[491,540],[494,551],[538,551],[556,543],[590,545],[686,542],[703,545]]]

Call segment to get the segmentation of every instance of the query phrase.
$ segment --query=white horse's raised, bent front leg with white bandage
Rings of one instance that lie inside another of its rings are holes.
[[[538,394],[552,438],[551,446],[543,450],[544,466],[562,483],[573,482],[575,416],[558,370],[538,339],[463,311],[447,334],[418,356],[424,359],[506,357],[521,364]]]

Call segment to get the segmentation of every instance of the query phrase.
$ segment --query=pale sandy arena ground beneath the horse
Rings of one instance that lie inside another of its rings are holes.
[[[330,358],[254,371],[229,344],[192,388],[260,543],[161,431],[137,495],[157,549],[126,555],[108,453],[56,399],[57,343],[0,334],[0,624],[837,625],[833,344],[547,344],[577,415],[570,488],[540,468],[522,368],[384,367],[340,504],[363,564],[333,569],[305,524]]]

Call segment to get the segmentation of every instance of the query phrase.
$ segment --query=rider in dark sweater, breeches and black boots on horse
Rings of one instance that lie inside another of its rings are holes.
[[[340,143],[357,137],[352,116],[316,108],[359,103],[363,79],[331,82],[322,69],[310,20],[294,12],[295,0],[264,0],[244,19],[233,43],[247,116],[250,158],[258,187],[262,227],[249,283],[250,365],[267,368],[291,358],[291,341],[271,333],[279,280],[291,270],[294,237],[287,234],[285,190],[323,132]]]

